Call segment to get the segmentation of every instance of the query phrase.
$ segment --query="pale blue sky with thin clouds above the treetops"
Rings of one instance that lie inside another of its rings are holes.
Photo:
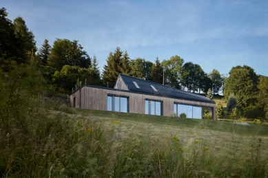
[[[41,47],[45,39],[77,40],[107,65],[116,47],[154,63],[181,56],[206,73],[248,65],[268,76],[268,1],[2,1],[8,19],[21,16]],[[0,8],[2,8],[0,7]]]

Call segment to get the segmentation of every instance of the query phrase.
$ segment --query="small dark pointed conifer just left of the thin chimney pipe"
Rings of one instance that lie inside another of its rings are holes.
[[[148,80],[163,84],[163,67],[160,64],[158,57],[156,58],[156,63],[152,66],[152,71]]]

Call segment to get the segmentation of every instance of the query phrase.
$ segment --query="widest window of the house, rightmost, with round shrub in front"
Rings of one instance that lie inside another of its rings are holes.
[[[178,115],[178,117],[180,117],[182,113],[185,113],[186,118],[202,119],[202,107],[174,103],[174,113]]]

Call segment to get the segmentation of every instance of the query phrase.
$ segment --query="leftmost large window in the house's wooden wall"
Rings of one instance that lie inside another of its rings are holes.
[[[107,96],[107,111],[128,113],[127,97]]]

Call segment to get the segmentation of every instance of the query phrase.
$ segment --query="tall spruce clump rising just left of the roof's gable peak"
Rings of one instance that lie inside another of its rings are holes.
[[[120,47],[116,47],[114,52],[110,52],[107,57],[107,65],[103,67],[103,85],[114,87],[118,75],[130,74],[130,58],[127,52],[122,52]]]

